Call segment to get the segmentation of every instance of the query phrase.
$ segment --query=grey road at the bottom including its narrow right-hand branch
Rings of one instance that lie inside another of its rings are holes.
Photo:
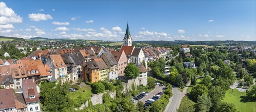
[[[181,100],[187,94],[187,89],[189,86],[190,86],[190,82],[188,82],[186,87],[183,89],[182,93],[179,91],[179,88],[172,86],[173,96],[169,99],[169,103],[165,108],[166,112],[176,111],[179,108],[181,104]]]

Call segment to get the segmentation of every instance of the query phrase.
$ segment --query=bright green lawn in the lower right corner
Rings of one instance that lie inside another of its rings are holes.
[[[229,89],[226,94],[224,101],[230,102],[235,105],[238,111],[256,111],[256,102],[247,102],[242,100],[242,97],[246,96],[246,92],[239,92],[237,89]]]

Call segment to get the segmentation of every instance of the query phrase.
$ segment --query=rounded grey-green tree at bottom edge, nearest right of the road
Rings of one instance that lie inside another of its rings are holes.
[[[195,104],[195,111],[209,111],[211,107],[211,98],[205,94],[198,97]]]

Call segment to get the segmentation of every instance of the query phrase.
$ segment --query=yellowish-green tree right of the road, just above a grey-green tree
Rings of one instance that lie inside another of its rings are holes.
[[[201,96],[207,93],[208,93],[208,88],[204,85],[199,85],[199,84],[195,85],[190,92],[194,100],[198,99],[198,96]]]

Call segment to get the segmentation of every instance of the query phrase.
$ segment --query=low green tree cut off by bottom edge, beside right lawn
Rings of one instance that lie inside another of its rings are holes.
[[[237,111],[237,109],[235,109],[233,103],[221,102],[218,105],[218,107],[216,107],[216,111],[219,111],[219,112],[234,112],[234,111]]]

